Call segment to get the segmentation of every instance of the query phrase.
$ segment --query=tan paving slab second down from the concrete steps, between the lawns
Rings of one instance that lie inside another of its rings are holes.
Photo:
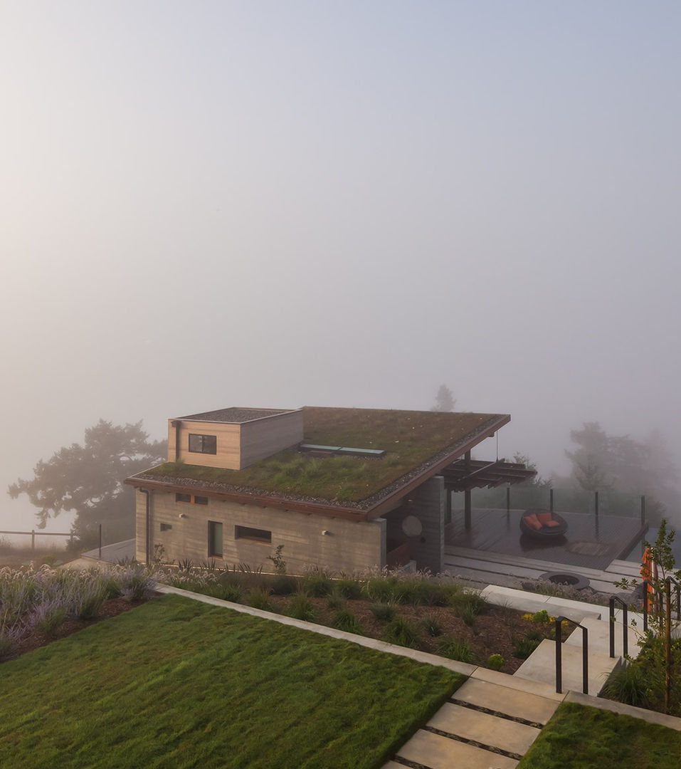
[[[446,702],[440,707],[440,710],[428,721],[428,726],[446,731],[448,734],[457,734],[458,737],[466,740],[500,747],[504,751],[520,755],[529,750],[540,732],[535,727],[473,711],[470,707],[462,707],[451,702]]]

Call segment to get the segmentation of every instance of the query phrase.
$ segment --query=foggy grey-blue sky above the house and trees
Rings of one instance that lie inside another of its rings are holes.
[[[679,39],[654,0],[0,0],[2,494],[98,418],[443,382],[543,474],[583,421],[679,461]]]

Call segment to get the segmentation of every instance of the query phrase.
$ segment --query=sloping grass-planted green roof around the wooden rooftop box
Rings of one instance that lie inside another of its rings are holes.
[[[481,441],[508,418],[503,414],[396,411],[306,406],[304,441],[327,446],[379,449],[383,458],[331,454],[314,456],[287,449],[244,470],[205,468],[165,462],[135,480],[165,481],[214,491],[265,492],[304,501],[326,501],[360,508],[402,485],[457,448]]]

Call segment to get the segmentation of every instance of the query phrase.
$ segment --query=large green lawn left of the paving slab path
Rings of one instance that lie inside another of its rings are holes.
[[[463,682],[168,595],[2,665],[0,766],[380,767]]]

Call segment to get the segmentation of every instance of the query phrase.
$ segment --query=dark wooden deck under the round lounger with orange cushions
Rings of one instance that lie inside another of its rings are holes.
[[[639,518],[619,515],[560,514],[568,523],[567,533],[556,541],[537,541],[520,531],[523,510],[473,510],[469,531],[463,527],[463,511],[453,514],[445,531],[445,543],[457,548],[524,556],[555,564],[605,569],[612,561],[626,558],[646,533]],[[638,553],[632,554],[637,560]]]

